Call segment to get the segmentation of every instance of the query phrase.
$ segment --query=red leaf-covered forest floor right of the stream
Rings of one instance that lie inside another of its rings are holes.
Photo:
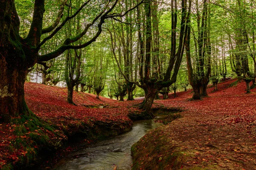
[[[256,170],[256,89],[245,94],[235,81],[209,86],[198,101],[188,100],[191,90],[155,101],[185,111],[133,145],[133,169]]]

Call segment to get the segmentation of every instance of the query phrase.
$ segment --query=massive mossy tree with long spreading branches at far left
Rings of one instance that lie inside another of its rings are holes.
[[[20,16],[17,13],[15,0],[0,1],[0,122],[10,122],[12,117],[19,115],[33,115],[24,99],[24,83],[29,68],[37,62],[54,59],[68,49],[80,49],[90,45],[101,34],[102,24],[106,19],[122,17],[143,2],[142,0],[133,8],[118,14],[115,10],[118,1],[87,0],[80,6],[74,7],[72,0],[61,0],[57,12],[49,10],[45,12],[45,7],[49,4],[45,0],[35,0],[32,22],[25,37],[20,35]],[[81,31],[59,41],[56,47],[49,45],[49,48],[54,50],[43,54],[41,49],[44,45],[52,37],[59,36],[66,23],[75,20],[81,13],[84,14]],[[52,18],[53,14],[56,16],[52,23],[48,20],[44,22],[45,18]],[[91,37],[83,39],[81,45],[76,44],[85,37],[88,30],[95,28],[97,29]]]

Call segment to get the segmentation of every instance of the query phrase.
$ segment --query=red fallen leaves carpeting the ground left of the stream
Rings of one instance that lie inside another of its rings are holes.
[[[95,123],[98,125],[114,125],[120,128],[131,127],[131,119],[128,118],[128,113],[136,111],[135,108],[129,106],[134,102],[118,102],[116,100],[108,99],[100,96],[100,100],[96,99],[96,95],[87,94],[74,91],[73,101],[77,105],[67,103],[67,89],[54,86],[42,85],[38,83],[25,83],[25,99],[29,109],[38,117],[45,120],[50,125],[57,125],[58,130],[64,130],[71,134],[76,133],[81,129],[88,130],[93,127]],[[99,108],[104,106],[104,108]],[[20,117],[18,117],[19,119]],[[85,125],[86,127],[83,127]],[[16,164],[21,159],[27,161],[28,148],[21,148],[17,146],[17,140],[25,139],[26,143],[32,142],[29,133],[22,136],[17,136],[14,131],[21,131],[17,129],[16,125],[0,124],[0,169],[6,164]],[[27,130],[29,130],[27,128]],[[124,130],[124,129],[123,129]],[[121,130],[122,131],[122,130]],[[49,138],[59,138],[53,132],[41,128],[41,133],[34,130],[33,133],[40,136],[47,134]],[[60,136],[65,139],[67,136]],[[54,140],[53,139],[53,140]],[[19,144],[18,144],[19,145]],[[31,144],[30,144],[31,145]],[[17,149],[19,147],[19,149]],[[31,150],[31,146],[29,147]],[[32,146],[32,155],[38,150],[38,146]]]

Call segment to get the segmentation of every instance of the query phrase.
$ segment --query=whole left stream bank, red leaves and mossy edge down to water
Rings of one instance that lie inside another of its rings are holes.
[[[25,83],[25,100],[29,109],[51,126],[32,128],[30,122],[36,123],[32,119],[26,120],[24,125],[0,124],[0,169],[29,165],[32,160],[38,162],[38,153],[52,150],[52,147],[59,150],[67,139],[83,137],[85,142],[90,143],[124,133],[131,130],[133,125],[128,114],[137,111],[128,107],[129,102],[118,102],[102,96],[99,100],[94,94],[76,91],[73,94],[76,105],[68,104],[67,88],[33,82]],[[131,101],[129,106],[133,103]],[[70,149],[64,148],[64,152]]]

